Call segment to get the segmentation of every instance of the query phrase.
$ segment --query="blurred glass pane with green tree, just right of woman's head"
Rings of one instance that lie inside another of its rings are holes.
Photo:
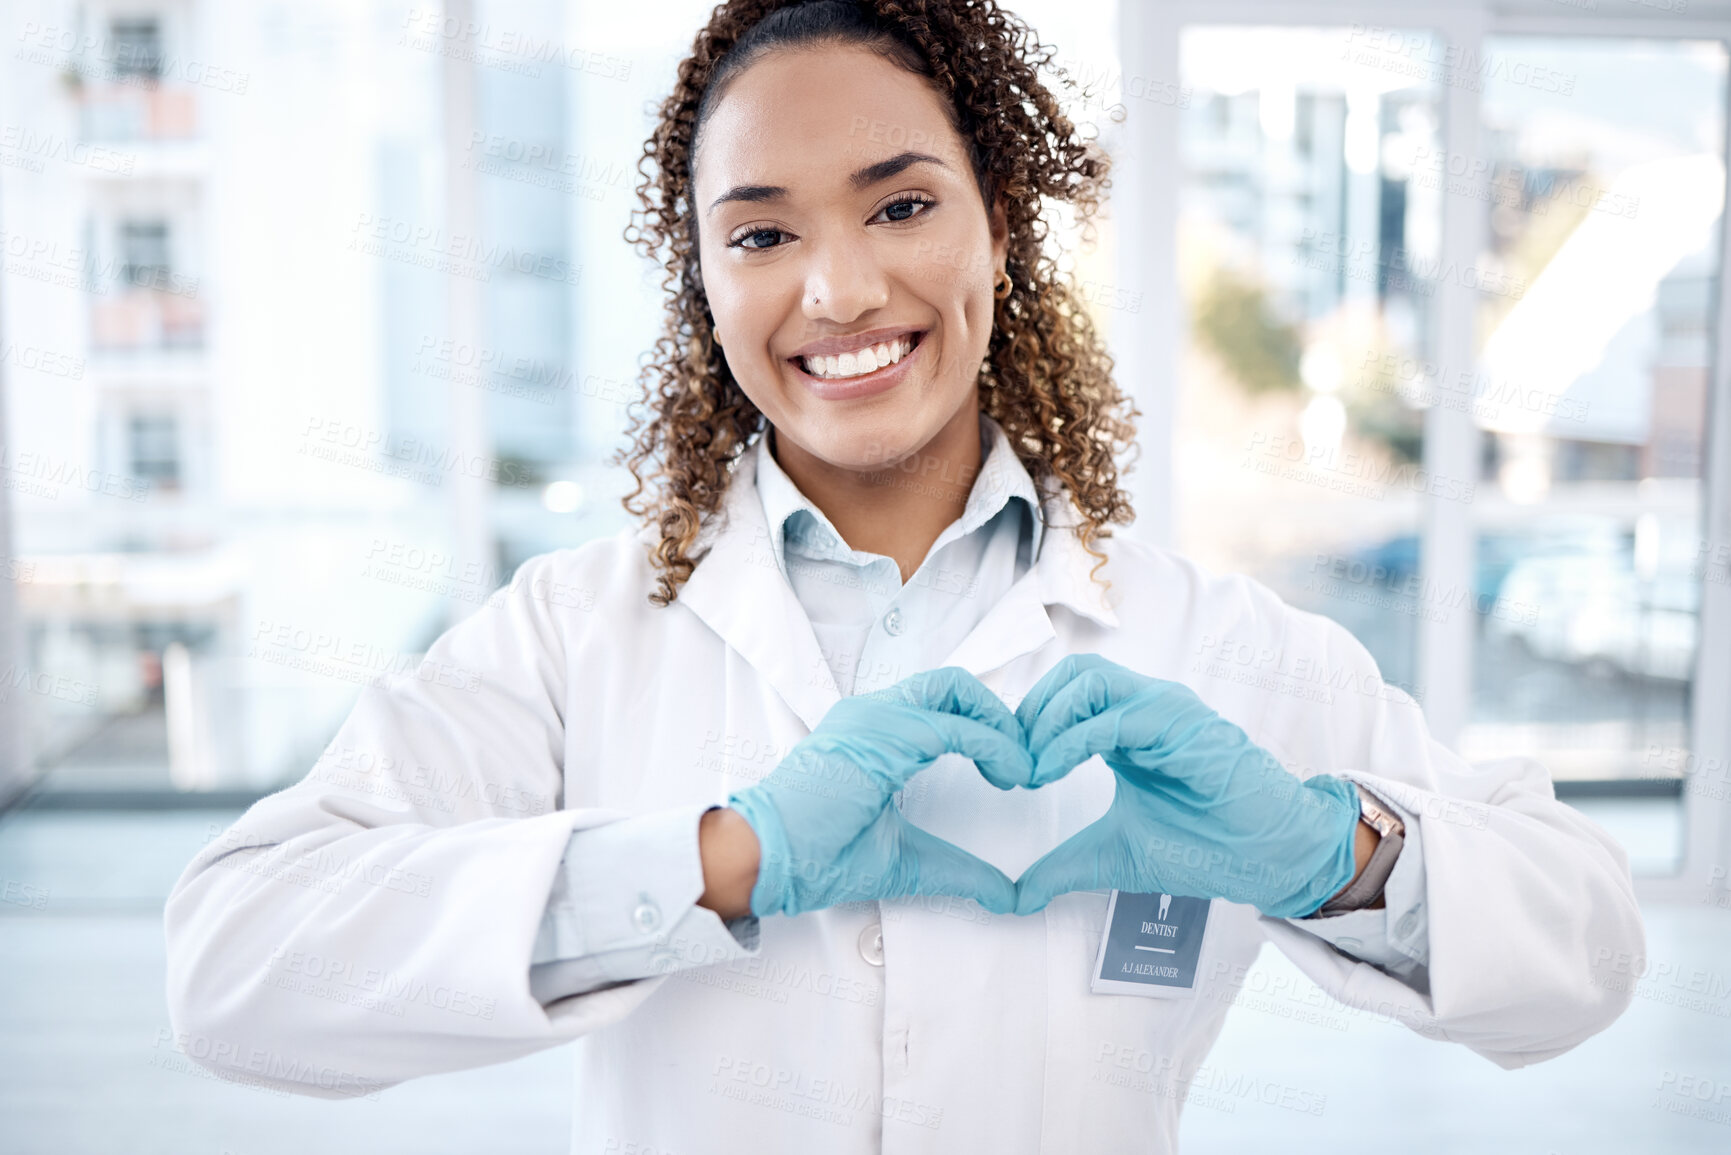
[[[1404,592],[1437,481],[1400,371],[1432,357],[1440,121],[1430,80],[1350,38],[1182,33],[1179,547],[1340,620],[1414,689],[1419,615],[1458,611]]]

